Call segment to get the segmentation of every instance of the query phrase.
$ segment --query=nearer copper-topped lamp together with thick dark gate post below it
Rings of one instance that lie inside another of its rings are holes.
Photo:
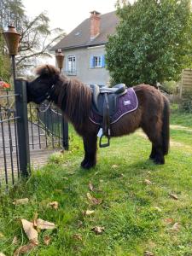
[[[18,117],[16,125],[19,145],[20,173],[23,177],[27,177],[29,174],[28,171],[30,170],[30,152],[27,120],[26,80],[16,79],[15,65],[15,55],[18,54],[20,34],[16,32],[15,26],[10,25],[8,26],[8,31],[3,32],[3,36],[12,60],[12,73],[15,87],[15,109]]]

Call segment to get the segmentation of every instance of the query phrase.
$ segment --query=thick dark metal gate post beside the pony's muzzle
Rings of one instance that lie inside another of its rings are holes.
[[[29,132],[27,119],[27,98],[26,80],[15,79],[15,108],[17,119],[17,133],[19,144],[19,160],[21,176],[27,177],[30,172],[30,151],[29,151]]]

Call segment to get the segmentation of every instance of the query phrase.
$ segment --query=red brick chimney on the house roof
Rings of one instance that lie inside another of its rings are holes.
[[[90,12],[90,40],[96,38],[100,33],[100,15],[95,10]]]

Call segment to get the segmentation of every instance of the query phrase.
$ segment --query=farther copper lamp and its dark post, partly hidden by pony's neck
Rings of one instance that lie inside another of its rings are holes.
[[[58,49],[55,54],[56,64],[60,69],[60,73],[63,67],[64,55],[61,52],[61,49]],[[64,117],[62,117],[62,147],[68,150],[68,123]]]

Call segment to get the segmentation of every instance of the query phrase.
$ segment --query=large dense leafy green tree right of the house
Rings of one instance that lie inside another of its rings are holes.
[[[119,25],[106,46],[113,83],[178,80],[192,63],[190,0],[118,1]]]

